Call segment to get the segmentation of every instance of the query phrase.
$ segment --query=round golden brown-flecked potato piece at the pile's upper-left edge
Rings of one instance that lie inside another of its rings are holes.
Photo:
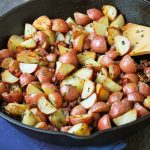
[[[37,30],[46,30],[51,28],[51,21],[47,16],[40,16],[33,22]]]

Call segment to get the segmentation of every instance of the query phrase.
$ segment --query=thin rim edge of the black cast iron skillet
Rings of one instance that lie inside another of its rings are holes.
[[[12,14],[14,11],[16,11],[17,9],[23,7],[23,6],[26,6],[26,5],[31,5],[31,3],[33,3],[34,1],[36,0],[29,0],[29,1],[26,1],[12,9],[10,9],[9,11],[7,11],[6,13],[4,13],[2,16],[0,16],[0,23],[1,21],[3,21],[3,19],[5,19],[5,17],[7,17],[8,15]],[[143,0],[144,2],[147,2],[150,4],[150,1],[149,0]],[[25,125],[13,118],[11,118],[10,116],[2,113],[0,111],[0,117],[4,118],[5,120],[7,120],[8,122],[11,122],[12,124],[14,125],[17,125],[19,127],[22,127],[22,128],[25,128],[25,129],[28,129],[30,131],[35,131],[35,132],[39,132],[39,133],[44,133],[44,134],[51,134],[51,135],[60,135],[60,136],[66,136],[66,137],[70,137],[72,139],[76,139],[76,140],[89,140],[89,139],[93,139],[97,136],[100,136],[101,134],[107,134],[109,132],[114,132],[115,130],[119,130],[119,129],[126,129],[126,128],[130,128],[132,126],[135,126],[136,124],[140,124],[141,122],[147,120],[150,118],[150,115],[147,115],[147,116],[144,116],[144,117],[141,117],[141,118],[138,118],[137,120],[131,122],[131,123],[128,123],[128,124],[125,124],[125,125],[122,125],[122,126],[115,126],[111,129],[107,129],[105,131],[97,131],[89,136],[77,136],[77,135],[74,135],[74,134],[70,134],[70,133],[65,133],[65,132],[61,132],[61,131],[51,131],[51,130],[43,130],[43,129],[38,129],[38,128],[35,128],[35,127],[31,127],[31,126],[28,126],[28,125]]]

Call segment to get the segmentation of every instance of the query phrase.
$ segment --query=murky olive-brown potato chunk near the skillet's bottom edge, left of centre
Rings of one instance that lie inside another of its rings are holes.
[[[58,109],[51,116],[49,116],[51,124],[55,127],[61,128],[67,124],[66,116],[62,109]]]

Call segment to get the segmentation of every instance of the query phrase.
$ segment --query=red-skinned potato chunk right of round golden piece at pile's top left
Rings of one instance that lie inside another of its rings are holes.
[[[53,31],[66,33],[69,30],[68,24],[63,19],[54,19],[52,23]]]

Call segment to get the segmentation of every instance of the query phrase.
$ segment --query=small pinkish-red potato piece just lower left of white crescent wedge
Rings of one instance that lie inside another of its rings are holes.
[[[70,115],[71,116],[76,116],[76,115],[83,115],[83,114],[86,114],[86,109],[83,108],[81,105],[77,105],[75,106],[72,110],[71,110],[71,113]]]

